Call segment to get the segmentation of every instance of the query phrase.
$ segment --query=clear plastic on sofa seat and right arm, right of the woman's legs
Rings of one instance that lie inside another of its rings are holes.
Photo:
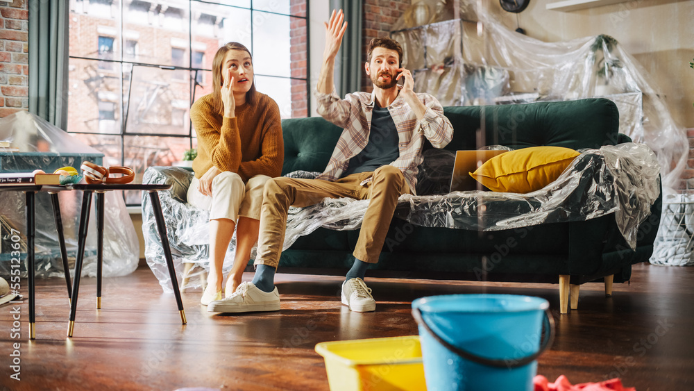
[[[645,144],[586,149],[556,181],[536,192],[405,194],[398,200],[396,217],[418,226],[500,231],[614,213],[620,232],[634,249],[638,224],[650,215],[660,194],[659,170],[656,156]],[[368,200],[323,199],[314,206],[290,208],[283,249],[319,227],[359,228],[368,206]]]

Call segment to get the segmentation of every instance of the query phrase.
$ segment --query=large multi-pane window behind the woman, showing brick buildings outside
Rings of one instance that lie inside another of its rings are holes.
[[[136,181],[181,160],[196,147],[190,105],[212,92],[212,58],[230,41],[251,49],[256,88],[282,118],[307,116],[307,1],[70,1],[68,131]]]

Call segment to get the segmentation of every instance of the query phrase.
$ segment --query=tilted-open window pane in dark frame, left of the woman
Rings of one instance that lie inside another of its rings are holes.
[[[133,67],[125,133],[189,134],[190,72]]]

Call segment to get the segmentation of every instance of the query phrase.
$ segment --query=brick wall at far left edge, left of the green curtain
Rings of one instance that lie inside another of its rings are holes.
[[[28,1],[0,1],[0,118],[29,108]]]

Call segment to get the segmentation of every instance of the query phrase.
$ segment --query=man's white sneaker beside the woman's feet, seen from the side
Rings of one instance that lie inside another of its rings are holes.
[[[280,294],[277,287],[270,292],[263,292],[253,283],[244,281],[230,297],[212,301],[208,313],[250,313],[254,311],[280,310]]]

